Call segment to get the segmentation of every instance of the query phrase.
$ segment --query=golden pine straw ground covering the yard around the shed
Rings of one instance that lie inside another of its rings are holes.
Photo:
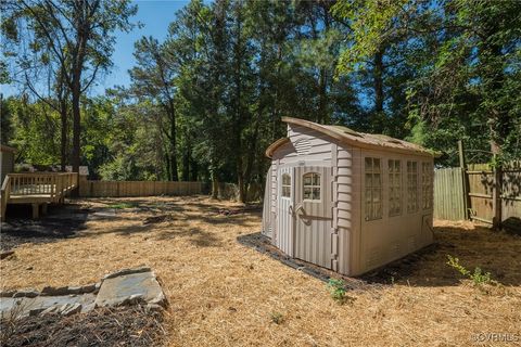
[[[339,305],[325,282],[238,242],[260,230],[260,211],[225,216],[219,208],[240,206],[206,197],[80,204],[119,208],[73,239],[16,247],[1,260],[3,288],[86,284],[150,266],[170,304],[169,346],[461,346],[474,344],[472,334],[521,334],[519,236],[436,222],[433,252],[398,269],[390,284],[350,292],[354,300]],[[143,224],[163,214],[169,217]],[[503,285],[482,293],[446,266],[447,255]]]

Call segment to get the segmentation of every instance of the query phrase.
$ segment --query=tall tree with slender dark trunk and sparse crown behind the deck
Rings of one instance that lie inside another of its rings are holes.
[[[137,12],[129,0],[122,1],[7,1],[7,17],[30,30],[35,47],[45,47],[59,62],[71,90],[73,114],[73,170],[80,165],[80,99],[96,81],[101,70],[112,62],[115,30],[128,31],[134,25],[129,17]],[[21,52],[24,53],[24,52]],[[21,56],[22,54],[18,54]]]

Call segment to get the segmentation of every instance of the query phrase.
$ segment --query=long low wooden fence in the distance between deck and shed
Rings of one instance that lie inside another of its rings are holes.
[[[201,182],[88,180],[79,181],[79,196],[81,197],[195,195],[201,193]]]

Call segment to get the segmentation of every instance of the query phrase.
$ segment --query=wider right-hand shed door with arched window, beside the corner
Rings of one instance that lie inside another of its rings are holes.
[[[331,269],[331,167],[295,168],[295,258]]]

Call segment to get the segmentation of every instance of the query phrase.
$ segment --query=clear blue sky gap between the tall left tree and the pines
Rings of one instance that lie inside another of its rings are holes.
[[[134,42],[143,36],[153,36],[160,41],[167,35],[168,25],[175,20],[176,12],[189,3],[188,0],[137,0],[138,13],[131,18],[134,23],[140,22],[143,27],[135,28],[130,33],[115,33],[116,46],[112,61],[114,66],[107,75],[100,76],[98,85],[90,90],[91,95],[103,94],[106,88],[114,86],[129,86],[128,69],[135,65]],[[12,86],[1,86],[4,97],[16,93]]]

